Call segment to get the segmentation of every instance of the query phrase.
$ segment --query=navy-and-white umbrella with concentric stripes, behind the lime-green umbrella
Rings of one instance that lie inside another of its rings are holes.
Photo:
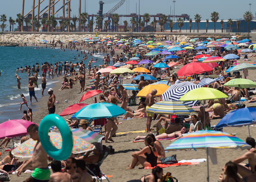
[[[168,101],[168,100],[179,101],[184,94],[199,87],[200,87],[199,85],[196,85],[189,81],[173,84],[164,92],[164,94],[162,95],[162,99],[163,101]],[[189,106],[194,106],[196,103],[197,101],[184,102],[184,104]]]

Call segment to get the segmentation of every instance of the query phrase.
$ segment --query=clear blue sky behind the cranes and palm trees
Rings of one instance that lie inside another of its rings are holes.
[[[37,0],[36,5],[37,5]],[[120,0],[103,0],[105,3],[103,6],[103,13],[110,10],[115,4]],[[138,1],[139,0],[126,0],[126,2],[116,11],[118,14],[130,14],[136,13],[136,3],[137,3],[137,13],[138,13]],[[82,0],[82,12],[84,12],[84,2]],[[47,6],[48,0],[45,0],[41,4],[41,9]],[[251,11],[255,16],[256,12],[256,1],[255,0],[176,0],[175,3],[175,15],[188,14],[193,19],[194,15],[199,13],[202,20],[210,19],[210,13],[213,11],[219,12],[220,19],[238,19],[242,18],[245,11],[249,10],[249,3],[251,5]],[[58,9],[62,4],[60,0],[55,5],[55,10]],[[170,6],[173,14],[172,0],[140,0],[140,14],[149,13],[157,14],[164,13],[166,15],[170,14]],[[6,14],[7,19],[9,17],[16,18],[16,14],[21,12],[22,0],[2,0],[0,6],[0,15]],[[32,0],[25,0],[25,13],[29,11],[32,7]],[[78,0],[71,1],[71,16],[78,15]],[[96,14],[99,10],[99,0],[86,0],[86,12],[89,14]],[[36,12],[37,13],[37,10]],[[56,15],[62,16],[61,11]],[[129,18],[122,17],[123,20],[128,20]]]

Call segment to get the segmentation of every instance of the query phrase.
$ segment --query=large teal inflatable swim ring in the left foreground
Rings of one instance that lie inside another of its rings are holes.
[[[52,145],[48,137],[51,126],[56,126],[62,137],[62,147],[58,149]],[[55,160],[66,160],[73,149],[72,132],[62,117],[57,114],[49,114],[43,118],[38,128],[38,136],[46,153]]]

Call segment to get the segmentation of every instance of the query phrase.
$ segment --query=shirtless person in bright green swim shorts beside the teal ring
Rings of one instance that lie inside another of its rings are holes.
[[[35,169],[31,174],[31,181],[48,182],[50,180],[50,170],[48,169],[47,153],[38,137],[38,126],[36,124],[29,125],[27,133],[30,135],[31,139],[37,140],[37,144],[34,148],[32,158],[27,161],[26,165],[18,170],[17,175],[19,176],[19,174],[25,171],[28,166],[32,165]]]

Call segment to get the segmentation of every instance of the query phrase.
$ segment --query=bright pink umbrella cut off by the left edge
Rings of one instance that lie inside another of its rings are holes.
[[[27,127],[34,122],[27,120],[9,120],[0,124],[0,139],[27,135]]]

